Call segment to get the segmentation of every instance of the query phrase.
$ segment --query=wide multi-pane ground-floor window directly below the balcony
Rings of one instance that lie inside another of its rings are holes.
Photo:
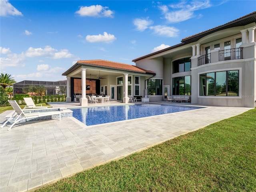
[[[238,70],[200,74],[200,96],[238,96],[238,77]]]

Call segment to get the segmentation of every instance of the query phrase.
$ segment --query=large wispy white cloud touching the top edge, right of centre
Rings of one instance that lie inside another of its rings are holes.
[[[195,10],[201,10],[210,7],[210,1],[182,1],[179,4],[172,4],[169,7],[172,8],[170,11],[168,6],[162,5],[158,6],[166,20],[170,23],[182,22],[188,20],[194,16]]]

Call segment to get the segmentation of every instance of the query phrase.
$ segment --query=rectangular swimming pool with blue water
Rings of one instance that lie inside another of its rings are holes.
[[[168,113],[194,110],[201,107],[173,106],[163,104],[135,104],[70,109],[73,117],[86,124],[97,125],[128,119],[136,119]]]

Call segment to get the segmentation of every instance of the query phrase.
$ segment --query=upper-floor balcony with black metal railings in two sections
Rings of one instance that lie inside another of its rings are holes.
[[[212,60],[217,62],[217,61],[242,59],[243,58],[242,49],[243,48],[233,48],[233,49],[220,50],[220,51],[218,51],[218,58],[217,58],[217,55],[215,54],[214,56],[216,56],[216,58],[215,59],[212,58]],[[210,53],[198,57],[198,66],[208,64],[210,62],[211,62],[211,54]]]

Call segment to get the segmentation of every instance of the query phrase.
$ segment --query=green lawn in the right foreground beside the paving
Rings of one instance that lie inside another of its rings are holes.
[[[36,191],[256,191],[256,109]]]

